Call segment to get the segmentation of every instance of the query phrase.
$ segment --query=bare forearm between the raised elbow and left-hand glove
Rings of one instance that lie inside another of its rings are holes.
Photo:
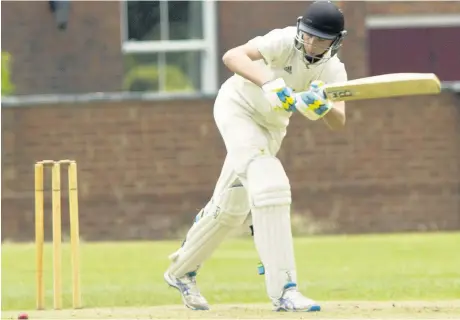
[[[259,87],[273,80],[273,75],[268,68],[255,63],[242,52],[230,50],[224,55],[222,61],[230,71],[248,79]]]

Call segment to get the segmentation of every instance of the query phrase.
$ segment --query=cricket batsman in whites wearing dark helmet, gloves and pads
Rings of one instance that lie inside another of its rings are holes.
[[[324,83],[347,81],[337,52],[346,35],[342,12],[330,1],[312,3],[296,27],[275,29],[227,51],[234,72],[220,88],[214,118],[227,155],[214,193],[198,213],[182,246],[170,255],[166,282],[184,304],[208,310],[196,276],[226,236],[251,212],[254,242],[265,268],[265,286],[275,311],[320,311],[297,287],[291,233],[291,188],[276,157],[289,118],[345,124],[344,102],[326,99]]]

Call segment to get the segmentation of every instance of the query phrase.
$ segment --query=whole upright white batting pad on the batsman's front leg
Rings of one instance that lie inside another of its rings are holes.
[[[251,198],[254,241],[265,267],[265,283],[270,298],[279,299],[284,286],[296,282],[291,232],[291,188],[281,162],[275,157],[259,157],[248,167],[247,183]]]

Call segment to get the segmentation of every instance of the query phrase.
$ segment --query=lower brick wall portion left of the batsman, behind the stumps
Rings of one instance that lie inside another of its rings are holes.
[[[33,163],[43,159],[77,161],[83,238],[162,236],[189,221],[212,190],[223,155],[210,104],[4,109],[2,237],[33,235]],[[193,112],[184,116],[184,105]]]

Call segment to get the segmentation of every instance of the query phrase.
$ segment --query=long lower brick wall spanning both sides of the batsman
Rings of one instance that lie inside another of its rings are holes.
[[[349,103],[347,128],[335,133],[294,117],[280,152],[293,211],[335,233],[459,229],[459,105],[451,94]],[[33,164],[43,159],[77,160],[85,239],[160,238],[189,223],[225,153],[211,106],[4,108],[3,239],[32,239]]]

